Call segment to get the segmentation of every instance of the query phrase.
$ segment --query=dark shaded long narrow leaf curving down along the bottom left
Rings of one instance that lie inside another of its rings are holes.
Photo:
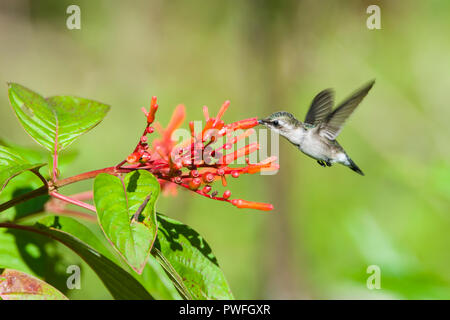
[[[45,221],[49,224],[50,221]],[[73,220],[78,232],[88,236],[90,232],[86,226]],[[153,297],[128,272],[116,265],[103,254],[87,245],[71,234],[58,230],[58,219],[54,219],[51,226],[36,224],[35,227],[17,225],[13,223],[0,223],[0,228],[13,228],[38,233],[57,240],[77,253],[99,276],[111,295],[118,300],[147,300]]]

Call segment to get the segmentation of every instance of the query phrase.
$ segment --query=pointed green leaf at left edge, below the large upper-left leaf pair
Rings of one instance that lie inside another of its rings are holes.
[[[0,146],[0,192],[15,176],[25,171],[37,172],[42,163],[29,163],[13,149]]]

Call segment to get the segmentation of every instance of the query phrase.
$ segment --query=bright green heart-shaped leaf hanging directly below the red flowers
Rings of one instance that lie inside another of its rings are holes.
[[[100,226],[113,247],[139,274],[156,239],[155,202],[159,192],[158,180],[145,170],[128,173],[123,181],[102,173],[94,181]]]

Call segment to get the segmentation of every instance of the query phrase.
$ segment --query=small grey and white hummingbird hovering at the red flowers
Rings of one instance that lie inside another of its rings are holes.
[[[297,120],[289,112],[279,111],[258,120],[258,123],[285,137],[304,154],[317,160],[322,167],[331,167],[334,163],[340,163],[363,176],[364,173],[348,156],[336,138],[342,131],[345,121],[355,111],[374,83],[375,80],[357,90],[334,110],[332,110],[334,91],[325,89],[319,92],[311,102],[304,122]]]

